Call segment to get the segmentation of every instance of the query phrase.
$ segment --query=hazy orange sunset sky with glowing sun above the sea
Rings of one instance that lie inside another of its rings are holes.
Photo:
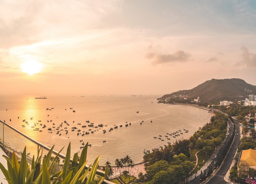
[[[256,85],[255,0],[0,0],[0,95]]]

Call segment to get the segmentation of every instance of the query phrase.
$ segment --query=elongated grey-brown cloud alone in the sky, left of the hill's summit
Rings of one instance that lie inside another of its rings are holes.
[[[153,59],[155,64],[173,63],[173,62],[186,62],[191,55],[184,51],[176,51],[173,54],[162,54],[162,53],[147,53],[147,59]]]

